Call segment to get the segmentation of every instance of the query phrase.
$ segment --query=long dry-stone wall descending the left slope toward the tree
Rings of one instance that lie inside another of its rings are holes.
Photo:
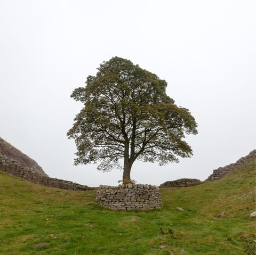
[[[11,174],[13,176],[28,180],[31,183],[36,183],[44,186],[77,191],[87,191],[93,189],[86,185],[69,182],[68,180],[61,180],[40,175],[38,174],[38,172],[33,171],[33,169],[29,169],[28,167],[22,165],[17,160],[13,160],[3,155],[0,155],[0,170],[3,172],[7,172],[7,174]]]

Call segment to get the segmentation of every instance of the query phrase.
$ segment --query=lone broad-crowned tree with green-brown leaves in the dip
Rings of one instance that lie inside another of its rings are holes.
[[[130,60],[113,57],[100,64],[96,76],[71,94],[84,104],[67,134],[77,146],[75,164],[100,161],[98,170],[108,171],[121,168],[123,159],[123,180],[130,180],[135,160],[162,166],[190,157],[183,138],[197,134],[197,124],[166,95],[166,86]]]

